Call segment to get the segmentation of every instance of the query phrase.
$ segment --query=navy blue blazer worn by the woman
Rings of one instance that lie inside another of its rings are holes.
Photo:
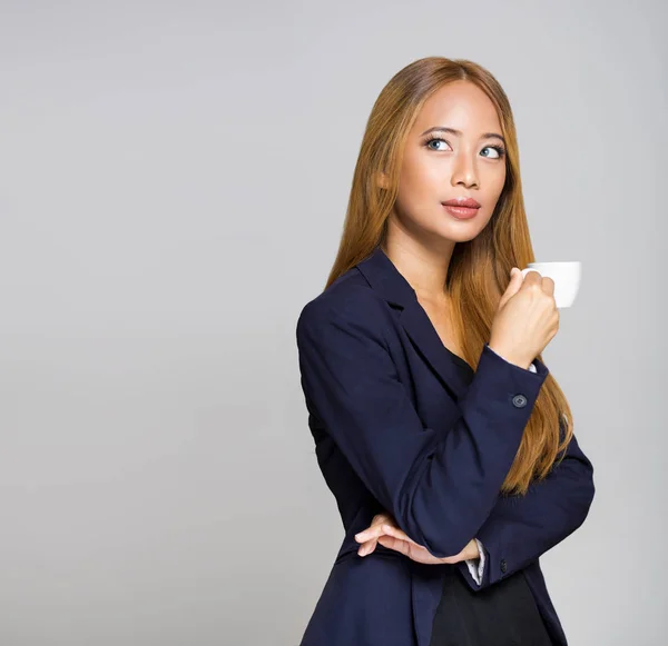
[[[485,549],[482,585],[521,570],[554,644],[566,635],[539,557],[574,531],[593,499],[593,468],[577,439],[525,496],[501,495],[549,374],[484,346],[470,385],[415,291],[376,247],[307,302],[296,325],[301,382],[315,454],[345,536],[302,646],[429,646],[443,568],[355,534],[390,513],[438,557],[473,537]],[[563,427],[561,427],[563,428]]]

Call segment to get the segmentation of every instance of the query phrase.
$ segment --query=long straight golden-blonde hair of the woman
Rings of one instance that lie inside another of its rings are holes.
[[[325,289],[384,242],[387,218],[399,192],[407,133],[426,99],[444,85],[459,80],[474,83],[491,99],[507,143],[505,185],[494,213],[480,235],[454,246],[445,285],[453,304],[453,331],[460,339],[463,358],[475,368],[489,341],[510,269],[534,261],[510,102],[497,79],[481,66],[463,59],[423,58],[400,70],[383,88],[366,123],[338,252]],[[389,182],[382,189],[376,181],[381,171]],[[542,361],[541,355],[538,358]],[[533,479],[540,480],[550,471],[572,434],[570,407],[550,371],[501,491],[525,494]]]

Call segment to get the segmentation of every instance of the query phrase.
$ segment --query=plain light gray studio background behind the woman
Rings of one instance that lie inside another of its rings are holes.
[[[541,560],[572,646],[665,643],[666,3],[0,3],[0,644],[296,645],[343,537],[294,329],[381,88],[517,118],[546,350],[596,468]]]

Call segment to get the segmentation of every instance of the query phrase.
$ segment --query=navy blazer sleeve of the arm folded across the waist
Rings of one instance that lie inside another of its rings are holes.
[[[563,437],[563,425],[561,429]],[[485,556],[482,582],[464,576],[469,586],[480,590],[493,585],[562,541],[584,523],[595,490],[593,467],[573,435],[561,461],[524,496],[499,495],[475,534]],[[460,569],[470,575],[468,568]]]

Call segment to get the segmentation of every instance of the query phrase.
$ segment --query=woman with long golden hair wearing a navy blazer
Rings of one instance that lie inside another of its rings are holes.
[[[539,557],[593,469],[541,352],[508,98],[425,58],[376,100],[325,290],[297,326],[308,425],[345,537],[302,646],[566,645]]]

